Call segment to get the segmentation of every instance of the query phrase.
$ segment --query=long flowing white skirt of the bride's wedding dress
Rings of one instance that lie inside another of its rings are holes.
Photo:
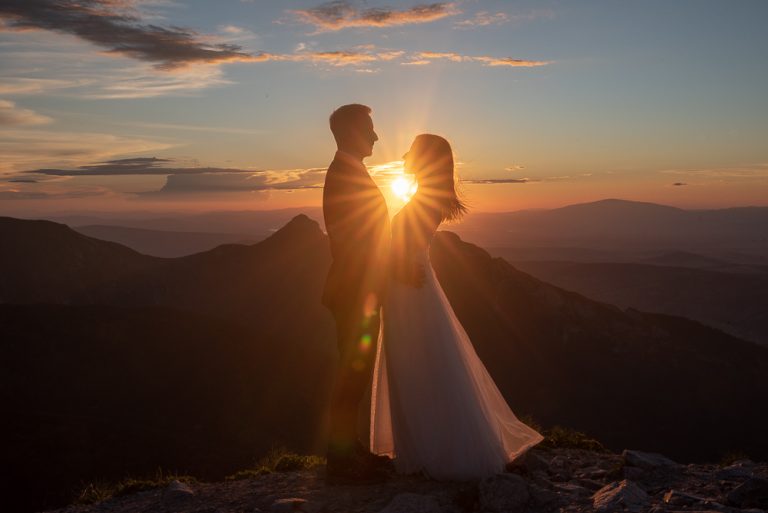
[[[373,374],[370,447],[400,473],[474,480],[543,440],[515,417],[478,358],[435,276],[391,281]]]

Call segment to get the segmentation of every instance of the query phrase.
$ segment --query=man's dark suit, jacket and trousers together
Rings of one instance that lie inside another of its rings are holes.
[[[336,321],[340,356],[331,404],[330,459],[359,447],[358,407],[375,363],[389,276],[387,205],[360,159],[336,153],[325,178],[323,216],[333,262],[322,302]]]

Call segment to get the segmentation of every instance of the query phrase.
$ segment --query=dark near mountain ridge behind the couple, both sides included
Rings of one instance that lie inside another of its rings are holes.
[[[0,240],[6,496],[50,506],[78,479],[217,476],[273,444],[322,451],[336,353],[315,221],[179,258],[50,221],[0,218]],[[516,413],[617,450],[768,457],[768,349],[587,299],[450,232],[430,256]]]

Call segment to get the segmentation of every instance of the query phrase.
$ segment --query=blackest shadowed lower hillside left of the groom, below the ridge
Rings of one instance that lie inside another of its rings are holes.
[[[220,479],[323,434],[320,349],[303,361],[258,330],[161,307],[2,305],[0,326],[6,511],[158,467]]]

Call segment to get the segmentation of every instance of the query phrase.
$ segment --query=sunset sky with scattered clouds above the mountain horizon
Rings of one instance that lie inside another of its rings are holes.
[[[765,0],[3,0],[0,215],[319,206],[328,116],[474,211],[768,206]]]

